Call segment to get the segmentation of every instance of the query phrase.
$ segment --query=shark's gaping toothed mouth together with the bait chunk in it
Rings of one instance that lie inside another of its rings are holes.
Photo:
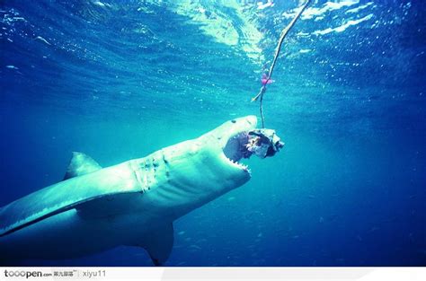
[[[231,136],[223,148],[226,158],[236,167],[251,172],[247,165],[239,162],[242,158],[250,158],[253,154],[260,158],[273,156],[284,143],[271,129],[253,129]]]

